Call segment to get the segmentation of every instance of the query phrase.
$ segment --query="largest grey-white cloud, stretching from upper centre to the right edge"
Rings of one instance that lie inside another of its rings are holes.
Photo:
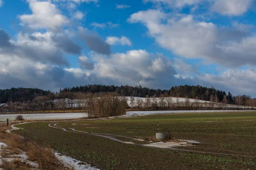
[[[148,35],[161,47],[181,57],[208,59],[226,66],[256,63],[252,48],[256,36],[248,30],[218,27],[198,21],[193,15],[172,15],[153,9],[132,14],[128,22],[143,23]]]

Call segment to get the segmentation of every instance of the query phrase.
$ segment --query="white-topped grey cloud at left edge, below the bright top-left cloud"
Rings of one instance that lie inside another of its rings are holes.
[[[0,30],[0,54],[8,57],[18,56],[34,62],[69,65],[67,59],[62,55],[58,43],[52,41],[52,35],[54,34],[50,32],[44,34],[39,32],[33,34],[19,33],[17,40],[13,41],[5,31]],[[64,47],[64,42],[59,45]]]

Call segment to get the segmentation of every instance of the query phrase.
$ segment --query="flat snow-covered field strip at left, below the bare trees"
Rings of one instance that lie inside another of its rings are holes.
[[[87,113],[44,113],[44,114],[21,114],[23,115],[24,119],[26,120],[49,120],[49,119],[77,119],[82,117],[87,117]],[[6,114],[6,115],[0,115],[0,122],[6,121],[6,119],[9,119],[9,121],[15,120],[17,117],[17,114]]]

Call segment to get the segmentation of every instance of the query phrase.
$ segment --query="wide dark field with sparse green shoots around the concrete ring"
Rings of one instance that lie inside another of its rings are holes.
[[[111,120],[59,122],[58,126],[132,138],[171,130],[175,139],[201,142],[180,150],[123,144],[99,136],[65,132],[49,122],[17,125],[31,138],[99,167],[118,169],[255,169],[256,113],[200,113],[139,116]],[[188,150],[188,151],[182,151]]]

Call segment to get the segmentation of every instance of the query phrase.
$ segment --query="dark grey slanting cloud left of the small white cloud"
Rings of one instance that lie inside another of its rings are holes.
[[[111,54],[111,45],[98,37],[95,32],[79,27],[79,37],[92,51],[105,55]]]

